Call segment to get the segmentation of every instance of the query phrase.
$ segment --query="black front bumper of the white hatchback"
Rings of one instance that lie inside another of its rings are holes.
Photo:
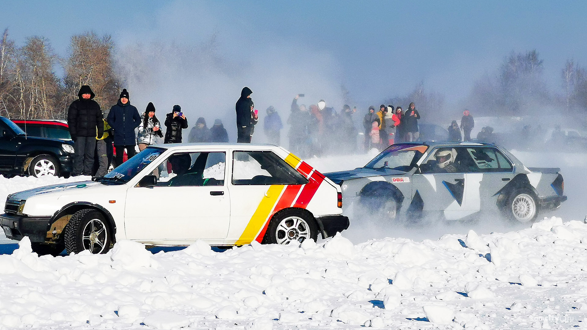
[[[0,225],[6,237],[20,241],[28,236],[31,242],[45,242],[51,217],[29,217],[28,215],[2,214]]]

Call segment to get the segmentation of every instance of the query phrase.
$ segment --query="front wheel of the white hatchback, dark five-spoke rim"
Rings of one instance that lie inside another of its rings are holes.
[[[65,248],[68,253],[84,250],[93,254],[106,253],[112,243],[112,230],[104,215],[97,210],[79,210],[65,226]]]

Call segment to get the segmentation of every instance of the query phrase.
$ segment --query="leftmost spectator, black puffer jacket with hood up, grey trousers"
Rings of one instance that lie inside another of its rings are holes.
[[[104,134],[102,110],[94,96],[90,86],[83,85],[77,93],[78,99],[69,106],[69,133],[75,148],[72,176],[92,175],[96,136]]]

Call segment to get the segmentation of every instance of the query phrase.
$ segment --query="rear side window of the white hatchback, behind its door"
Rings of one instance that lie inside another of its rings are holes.
[[[305,184],[308,180],[272,151],[234,151],[232,184]]]

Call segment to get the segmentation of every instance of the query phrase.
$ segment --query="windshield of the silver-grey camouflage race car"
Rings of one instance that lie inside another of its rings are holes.
[[[422,144],[394,144],[369,161],[370,169],[393,169],[407,172],[420,160],[428,146]]]

